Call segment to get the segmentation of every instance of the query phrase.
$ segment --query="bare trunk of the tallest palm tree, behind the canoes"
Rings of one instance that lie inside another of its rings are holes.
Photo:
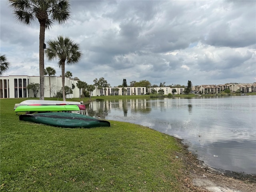
[[[44,100],[44,36],[45,36],[45,23],[40,22],[39,33],[39,75],[40,75],[40,100]]]

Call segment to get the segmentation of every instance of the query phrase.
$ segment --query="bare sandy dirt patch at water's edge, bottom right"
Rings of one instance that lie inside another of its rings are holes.
[[[242,174],[231,171],[215,170],[204,162],[198,160],[196,155],[188,151],[188,146],[177,140],[184,146],[184,150],[177,154],[182,158],[186,169],[184,183],[188,191],[193,192],[256,192],[256,174]]]

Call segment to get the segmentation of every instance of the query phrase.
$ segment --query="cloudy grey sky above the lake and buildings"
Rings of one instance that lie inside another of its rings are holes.
[[[256,82],[256,1],[72,0],[71,19],[46,30],[45,39],[68,36],[82,59],[66,65],[88,84],[111,86],[148,80],[193,85]],[[3,76],[39,76],[39,22],[16,22],[0,1],[0,53],[11,67]],[[45,58],[56,70],[57,60]]]

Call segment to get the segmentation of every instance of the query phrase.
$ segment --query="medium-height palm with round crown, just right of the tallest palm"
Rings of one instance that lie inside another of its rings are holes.
[[[47,41],[48,48],[46,48],[46,57],[48,60],[58,58],[58,66],[61,68],[62,77],[62,95],[63,100],[66,101],[65,97],[65,62],[67,64],[74,64],[78,62],[82,56],[79,51],[79,45],[74,43],[70,38],[58,36],[57,39]]]

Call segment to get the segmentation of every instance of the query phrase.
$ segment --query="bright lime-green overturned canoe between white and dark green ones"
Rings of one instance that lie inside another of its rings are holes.
[[[20,105],[14,112],[79,111],[77,105]]]

